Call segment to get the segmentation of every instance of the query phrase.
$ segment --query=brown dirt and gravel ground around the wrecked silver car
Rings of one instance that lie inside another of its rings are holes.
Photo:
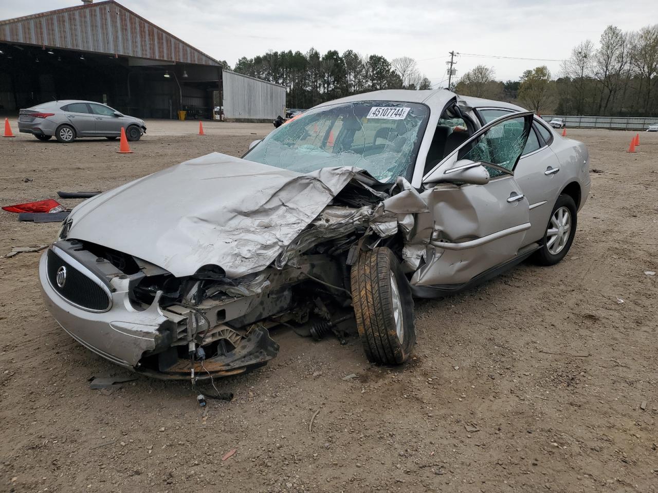
[[[147,126],[127,155],[105,139],[0,138],[0,203],[241,155],[271,129]],[[368,364],[358,339],[286,329],[270,364],[218,382],[232,402],[200,408],[190,383],[146,377],[90,390],[93,375],[128,373],[46,312],[39,254],[0,258],[0,491],[655,492],[658,275],[645,271],[658,271],[658,133],[630,154],[630,132],[567,130],[588,144],[593,181],[567,258],[417,302],[403,367]],[[2,212],[0,227],[6,254],[59,225]]]

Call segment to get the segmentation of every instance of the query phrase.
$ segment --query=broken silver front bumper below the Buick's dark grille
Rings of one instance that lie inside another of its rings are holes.
[[[107,312],[78,308],[51,286],[47,252],[39,262],[39,281],[45,306],[57,323],[99,356],[124,367],[136,367],[143,353],[154,350],[163,337],[159,327],[169,323],[157,303],[148,310],[135,310],[128,299],[128,280],[116,277],[111,281],[114,292],[112,306]]]

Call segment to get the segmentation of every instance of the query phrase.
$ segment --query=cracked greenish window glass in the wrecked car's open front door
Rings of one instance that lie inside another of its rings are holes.
[[[523,117],[505,120],[461,149],[459,159],[497,164],[511,171],[523,152],[529,129],[530,126],[526,126]],[[501,170],[490,166],[485,168],[492,178],[504,174]]]

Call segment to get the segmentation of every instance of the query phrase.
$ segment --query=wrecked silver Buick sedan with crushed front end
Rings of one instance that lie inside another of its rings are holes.
[[[307,110],[243,158],[212,153],[78,205],[39,265],[47,308],[93,352],[147,375],[234,375],[270,329],[356,327],[400,364],[413,297],[556,264],[589,156],[519,106],[377,91]]]

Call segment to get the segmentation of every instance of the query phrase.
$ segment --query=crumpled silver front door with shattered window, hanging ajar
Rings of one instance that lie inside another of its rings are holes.
[[[459,287],[522,254],[530,228],[528,200],[514,173],[530,133],[532,113],[515,113],[488,124],[443,158],[424,177],[428,214],[418,214],[415,235],[426,238],[415,286]],[[445,183],[439,178],[482,164],[484,185]]]

